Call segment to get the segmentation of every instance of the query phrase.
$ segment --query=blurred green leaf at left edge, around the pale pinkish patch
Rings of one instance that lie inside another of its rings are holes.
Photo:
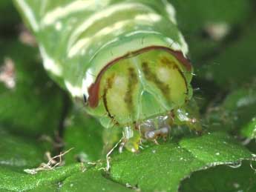
[[[47,77],[35,48],[0,39],[0,64],[12,59],[16,87],[0,82],[0,124],[14,133],[53,135],[59,128],[63,92]]]

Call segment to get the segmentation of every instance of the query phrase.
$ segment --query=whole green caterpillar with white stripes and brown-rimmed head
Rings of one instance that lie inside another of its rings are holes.
[[[200,130],[192,115],[188,46],[167,0],[14,0],[39,43],[45,69],[122,146]]]

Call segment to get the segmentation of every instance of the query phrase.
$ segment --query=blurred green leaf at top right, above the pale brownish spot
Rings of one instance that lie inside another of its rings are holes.
[[[180,29],[190,35],[202,30],[209,23],[226,22],[234,25],[243,22],[248,13],[253,11],[250,2],[247,0],[169,1],[177,10]]]

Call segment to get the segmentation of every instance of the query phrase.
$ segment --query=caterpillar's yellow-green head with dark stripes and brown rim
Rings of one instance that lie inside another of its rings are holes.
[[[191,98],[191,64],[181,52],[146,47],[105,65],[89,88],[88,111],[102,125],[129,126]]]

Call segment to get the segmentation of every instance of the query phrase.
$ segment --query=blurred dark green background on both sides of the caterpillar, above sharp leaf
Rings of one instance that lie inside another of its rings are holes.
[[[225,128],[256,152],[250,142],[256,136],[250,122],[256,117],[256,1],[169,1],[189,46],[206,127]],[[94,161],[102,154],[102,131],[47,76],[12,1],[1,0],[0,165],[34,168],[45,151],[71,147],[67,164]]]

